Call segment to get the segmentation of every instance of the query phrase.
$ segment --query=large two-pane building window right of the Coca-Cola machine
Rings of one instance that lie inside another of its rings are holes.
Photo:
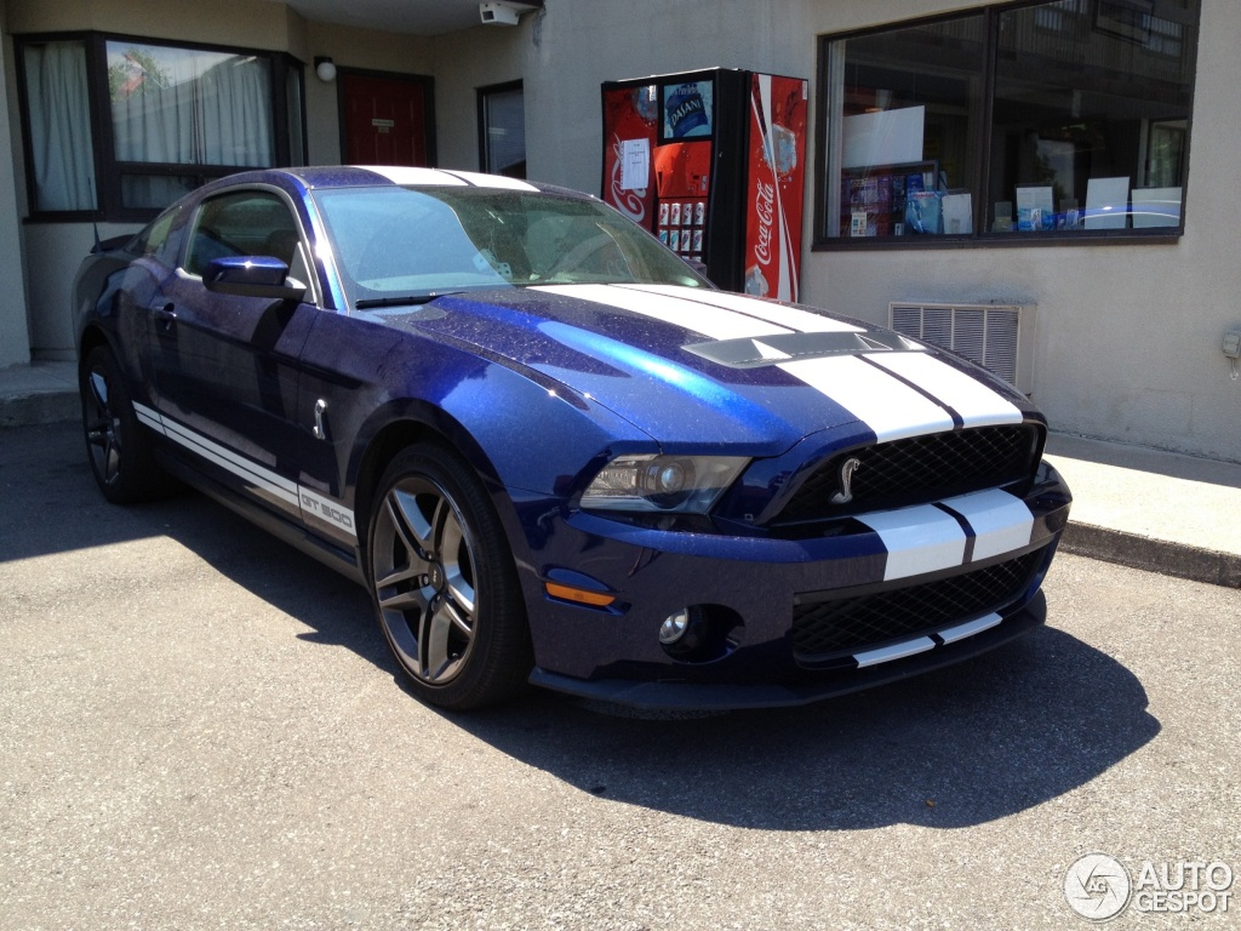
[[[1180,233],[1198,20],[1057,0],[824,37],[815,245]]]

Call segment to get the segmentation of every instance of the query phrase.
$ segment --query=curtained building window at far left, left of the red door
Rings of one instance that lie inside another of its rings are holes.
[[[19,47],[36,217],[145,220],[213,178],[302,159],[284,56],[98,35]]]

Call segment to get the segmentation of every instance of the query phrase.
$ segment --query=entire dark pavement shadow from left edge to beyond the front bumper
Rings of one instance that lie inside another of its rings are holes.
[[[346,647],[403,686],[361,587],[201,495],[105,504],[74,439],[53,443],[67,458],[4,480],[20,487],[30,515],[0,534],[0,560],[168,535],[310,627],[302,639]],[[967,663],[804,708],[652,719],[532,691],[444,716],[599,803],[824,830],[959,828],[1041,804],[1153,740],[1159,722],[1147,705],[1124,665],[1045,627]]]

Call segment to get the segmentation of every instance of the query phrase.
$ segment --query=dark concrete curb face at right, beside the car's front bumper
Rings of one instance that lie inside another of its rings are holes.
[[[1148,572],[1241,588],[1241,556],[1236,554],[1075,524],[1072,518],[1060,539],[1060,550]]]

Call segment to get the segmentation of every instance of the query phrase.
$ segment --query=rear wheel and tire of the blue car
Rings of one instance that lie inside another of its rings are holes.
[[[103,497],[134,504],[166,497],[175,482],[155,462],[150,436],[138,422],[117,356],[92,349],[79,374],[87,458]]]

